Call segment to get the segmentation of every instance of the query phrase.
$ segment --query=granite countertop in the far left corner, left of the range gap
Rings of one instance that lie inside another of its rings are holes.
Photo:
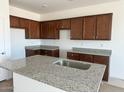
[[[35,46],[26,46],[26,49],[30,49],[30,50],[39,50],[39,49],[43,49],[43,50],[57,50],[59,49],[58,46],[48,46],[48,45],[35,45]]]

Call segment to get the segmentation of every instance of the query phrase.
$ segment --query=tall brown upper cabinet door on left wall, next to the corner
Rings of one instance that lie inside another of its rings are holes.
[[[30,20],[29,22],[29,38],[40,39],[40,23]]]

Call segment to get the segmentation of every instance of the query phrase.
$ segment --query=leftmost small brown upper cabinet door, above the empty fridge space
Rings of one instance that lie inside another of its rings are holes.
[[[12,28],[19,28],[20,27],[18,17],[10,16],[10,27],[12,27]]]

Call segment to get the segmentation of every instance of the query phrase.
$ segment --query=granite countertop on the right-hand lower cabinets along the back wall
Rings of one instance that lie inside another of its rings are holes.
[[[101,56],[111,56],[112,53],[111,50],[105,50],[105,49],[75,48],[75,47],[73,47],[72,50],[68,50],[68,52],[85,53],[85,54],[101,55]]]

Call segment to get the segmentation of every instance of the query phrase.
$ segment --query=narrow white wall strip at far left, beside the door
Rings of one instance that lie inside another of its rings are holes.
[[[0,3],[0,18],[3,20],[3,31],[5,41],[5,57],[10,56],[10,28],[9,28],[9,1],[3,0]],[[0,19],[1,20],[1,19]]]

